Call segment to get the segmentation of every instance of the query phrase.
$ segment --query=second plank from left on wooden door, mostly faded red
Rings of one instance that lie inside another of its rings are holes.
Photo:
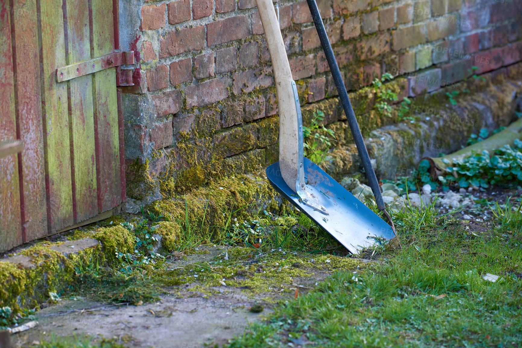
[[[47,233],[38,18],[35,0],[13,3],[18,135],[25,145],[19,157],[22,232],[28,242]]]

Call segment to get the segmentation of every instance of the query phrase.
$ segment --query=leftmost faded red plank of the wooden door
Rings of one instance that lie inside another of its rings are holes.
[[[16,139],[10,11],[0,0],[0,141]],[[20,194],[16,154],[0,158],[0,251],[21,244]]]

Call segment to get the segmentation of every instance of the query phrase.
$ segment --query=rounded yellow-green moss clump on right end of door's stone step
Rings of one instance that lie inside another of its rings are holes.
[[[101,242],[105,259],[111,265],[118,262],[117,252],[133,253],[134,251],[134,236],[121,225],[101,227],[92,237]]]

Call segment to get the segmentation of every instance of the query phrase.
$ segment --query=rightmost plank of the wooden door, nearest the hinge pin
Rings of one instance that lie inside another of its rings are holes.
[[[91,0],[91,58],[114,51],[112,6],[112,0]],[[93,74],[94,132],[96,134],[96,170],[98,209],[100,212],[109,210],[122,201],[115,87],[115,68]]]

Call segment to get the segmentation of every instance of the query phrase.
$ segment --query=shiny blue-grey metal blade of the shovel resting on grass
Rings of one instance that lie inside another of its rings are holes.
[[[300,211],[331,234],[352,254],[363,247],[381,244],[395,234],[384,220],[355,198],[319,166],[304,158],[306,190],[315,196],[328,215],[305,205],[298,195],[284,182],[279,162],[266,169],[270,184]]]

